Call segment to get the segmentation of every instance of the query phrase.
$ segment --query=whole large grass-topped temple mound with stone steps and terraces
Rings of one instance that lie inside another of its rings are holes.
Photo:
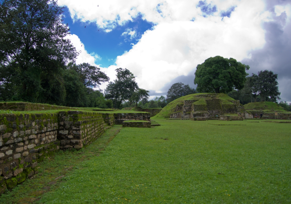
[[[239,100],[226,94],[200,93],[182,96],[172,101],[155,117],[242,120],[252,116],[244,110]]]

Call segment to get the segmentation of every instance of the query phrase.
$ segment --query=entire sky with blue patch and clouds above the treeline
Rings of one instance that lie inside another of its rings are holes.
[[[291,0],[58,0],[76,63],[98,66],[113,81],[127,68],[150,98],[173,83],[195,88],[196,66],[217,55],[278,74],[291,102]],[[86,28],[85,28],[86,26]],[[107,83],[100,86],[104,90]]]

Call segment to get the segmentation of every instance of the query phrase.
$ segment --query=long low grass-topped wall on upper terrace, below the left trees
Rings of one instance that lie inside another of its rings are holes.
[[[77,110],[79,108],[71,108],[66,106],[49,105],[42,103],[0,102],[0,110],[32,111],[32,110],[62,110],[62,109]]]

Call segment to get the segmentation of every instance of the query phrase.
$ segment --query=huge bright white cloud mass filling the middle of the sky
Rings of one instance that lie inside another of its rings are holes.
[[[158,93],[166,83],[180,75],[187,75],[208,57],[221,55],[240,61],[251,57],[251,50],[262,48],[265,44],[262,24],[271,20],[271,15],[264,10],[263,0],[211,1],[218,10],[206,18],[200,8],[196,8],[198,1],[108,0],[96,3],[59,0],[58,3],[68,6],[72,17],[96,22],[108,32],[116,24],[132,20],[138,13],[143,15],[143,19],[157,23],[129,52],[117,57],[117,66],[102,69],[113,80],[116,68],[127,68],[137,77],[141,88]],[[162,4],[157,9],[159,3]],[[219,13],[231,6],[236,8],[230,18],[221,20]],[[193,18],[195,20],[190,21]],[[132,29],[123,33],[131,37],[135,34]],[[80,61],[86,59],[81,57]]]

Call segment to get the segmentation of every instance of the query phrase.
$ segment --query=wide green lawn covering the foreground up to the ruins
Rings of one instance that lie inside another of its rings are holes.
[[[25,181],[30,189],[19,185],[0,203],[291,203],[291,124],[155,121],[122,128],[104,150],[120,126],[82,151],[57,153]]]

